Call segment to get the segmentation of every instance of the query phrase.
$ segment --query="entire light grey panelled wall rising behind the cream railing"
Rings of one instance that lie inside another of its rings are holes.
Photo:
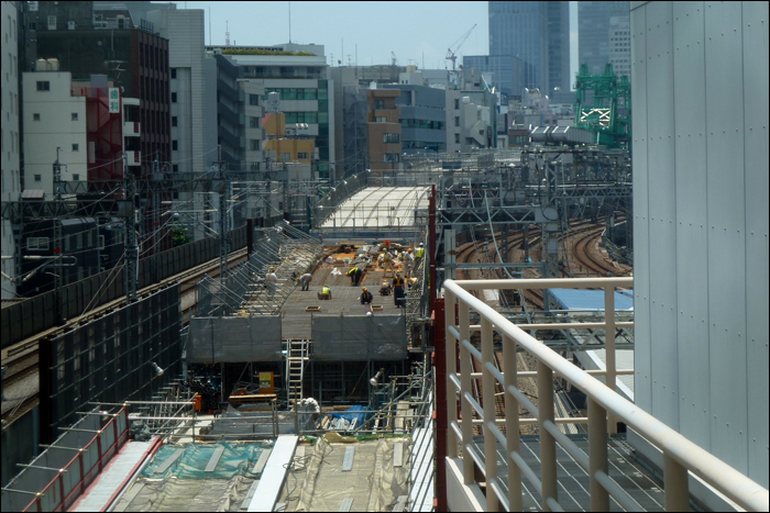
[[[768,4],[631,32],[636,402],[768,487]]]

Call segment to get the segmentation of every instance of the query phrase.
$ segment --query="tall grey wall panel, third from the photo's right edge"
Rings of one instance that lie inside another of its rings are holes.
[[[679,428],[708,449],[708,268],[703,4],[673,3]],[[681,70],[681,73],[680,73]],[[701,77],[700,79],[696,79]],[[693,87],[693,81],[700,87]],[[701,379],[690,379],[691,376]]]

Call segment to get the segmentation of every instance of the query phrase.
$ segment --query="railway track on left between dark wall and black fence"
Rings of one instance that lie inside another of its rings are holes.
[[[233,266],[235,264],[239,264],[246,258],[246,249],[239,249],[238,252],[233,252],[230,254],[230,259],[229,259],[229,266]],[[151,293],[154,293],[155,291],[160,290],[161,288],[167,287],[170,283],[178,282],[179,283],[179,297],[184,297],[185,294],[189,293],[195,293],[195,287],[196,282],[205,275],[208,274],[209,276],[216,277],[219,276],[219,259],[216,260],[209,260],[206,264],[201,264],[200,266],[196,266],[191,269],[188,269],[184,272],[180,272],[178,275],[172,276],[169,278],[166,278],[165,280],[155,283],[151,287],[147,287],[145,289],[142,289],[138,292],[139,297],[146,297]],[[13,404],[12,406],[9,404],[3,403],[3,411],[2,411],[2,420],[3,423],[6,422],[12,422],[15,417],[21,416],[24,412],[29,411],[31,408],[33,408],[37,403],[37,393],[29,394],[29,393],[20,393],[19,397],[12,395],[14,392],[11,392],[10,390],[15,388],[19,383],[23,383],[25,380],[31,379],[35,383],[37,383],[37,375],[38,375],[38,369],[37,369],[37,363],[40,360],[40,349],[38,349],[38,341],[46,336],[46,337],[55,337],[59,333],[68,330],[76,328],[78,326],[81,326],[92,319],[96,319],[98,316],[105,315],[107,313],[110,313],[111,311],[121,308],[124,304],[124,300],[116,300],[110,303],[103,304],[99,308],[94,309],[90,312],[87,312],[78,317],[69,320],[64,326],[58,326],[56,328],[47,330],[43,333],[38,333],[37,335],[23,341],[19,344],[15,344],[13,346],[9,346],[8,348],[2,350],[2,365],[7,367],[6,369],[6,376],[3,377],[3,391],[7,392],[7,400],[6,402],[9,401],[19,401],[21,399],[21,402]],[[184,323],[186,324],[189,322],[189,314],[191,309],[185,309],[183,312],[184,315]],[[34,376],[35,378],[31,378]],[[25,386],[24,388],[30,388]],[[35,386],[36,388],[36,386]],[[26,397],[24,397],[26,395]],[[22,399],[23,398],[23,399]],[[8,406],[8,408],[6,408]]]

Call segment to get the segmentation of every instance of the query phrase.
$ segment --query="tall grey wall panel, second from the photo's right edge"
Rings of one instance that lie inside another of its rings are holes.
[[[740,5],[706,3],[706,203],[712,451],[747,471],[744,96]]]

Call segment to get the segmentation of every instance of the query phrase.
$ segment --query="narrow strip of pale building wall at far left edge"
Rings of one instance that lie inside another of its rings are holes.
[[[2,164],[2,190],[0,197],[2,201],[18,201],[21,192],[19,166],[19,56],[16,51],[19,38],[19,26],[16,25],[16,8],[14,2],[2,2],[2,16],[0,26],[2,27],[2,147],[0,163]],[[10,20],[10,21],[9,21]],[[2,245],[3,256],[15,256],[15,243],[13,241],[13,230],[10,220],[2,220]],[[2,299],[15,297],[16,259],[0,260],[2,272],[0,283],[2,283]],[[10,279],[9,279],[10,278]]]

